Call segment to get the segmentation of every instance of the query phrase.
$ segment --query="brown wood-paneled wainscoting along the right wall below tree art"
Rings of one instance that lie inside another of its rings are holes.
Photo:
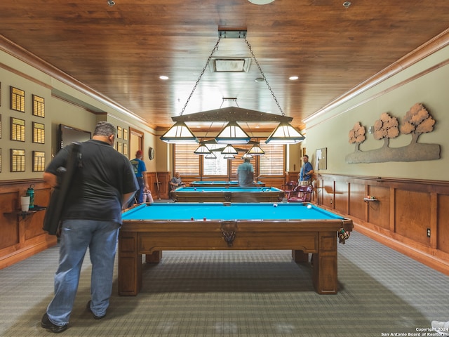
[[[449,275],[449,182],[320,174],[314,202],[351,218],[354,230]]]

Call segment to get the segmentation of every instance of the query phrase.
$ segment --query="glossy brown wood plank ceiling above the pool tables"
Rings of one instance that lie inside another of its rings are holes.
[[[1,0],[0,34],[154,128],[179,116],[220,29],[246,29],[292,124],[448,29],[448,0]],[[1,42],[1,45],[4,44]],[[245,39],[221,39],[217,58],[249,58]],[[167,80],[159,79],[166,75]],[[290,76],[299,79],[291,81]],[[255,62],[248,72],[207,67],[184,114],[222,98],[281,114]],[[232,103],[235,104],[235,103]],[[208,127],[208,126],[205,126]]]

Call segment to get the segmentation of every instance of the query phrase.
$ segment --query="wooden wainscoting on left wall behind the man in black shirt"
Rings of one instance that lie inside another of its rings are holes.
[[[0,182],[0,269],[25,260],[57,244],[54,235],[42,230],[45,211],[22,216],[20,196],[34,185],[34,204],[47,206],[50,186],[42,179],[7,180]]]

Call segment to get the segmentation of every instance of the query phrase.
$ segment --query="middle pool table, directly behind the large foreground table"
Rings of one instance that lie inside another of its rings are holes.
[[[179,202],[279,202],[283,190],[276,187],[177,187],[170,192]]]

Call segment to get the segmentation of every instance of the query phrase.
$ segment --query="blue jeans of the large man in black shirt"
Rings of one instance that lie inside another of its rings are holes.
[[[114,259],[120,224],[97,220],[65,220],[62,223],[55,296],[47,308],[53,324],[69,323],[78,290],[79,275],[89,247],[92,263],[91,310],[103,316],[112,293]]]

